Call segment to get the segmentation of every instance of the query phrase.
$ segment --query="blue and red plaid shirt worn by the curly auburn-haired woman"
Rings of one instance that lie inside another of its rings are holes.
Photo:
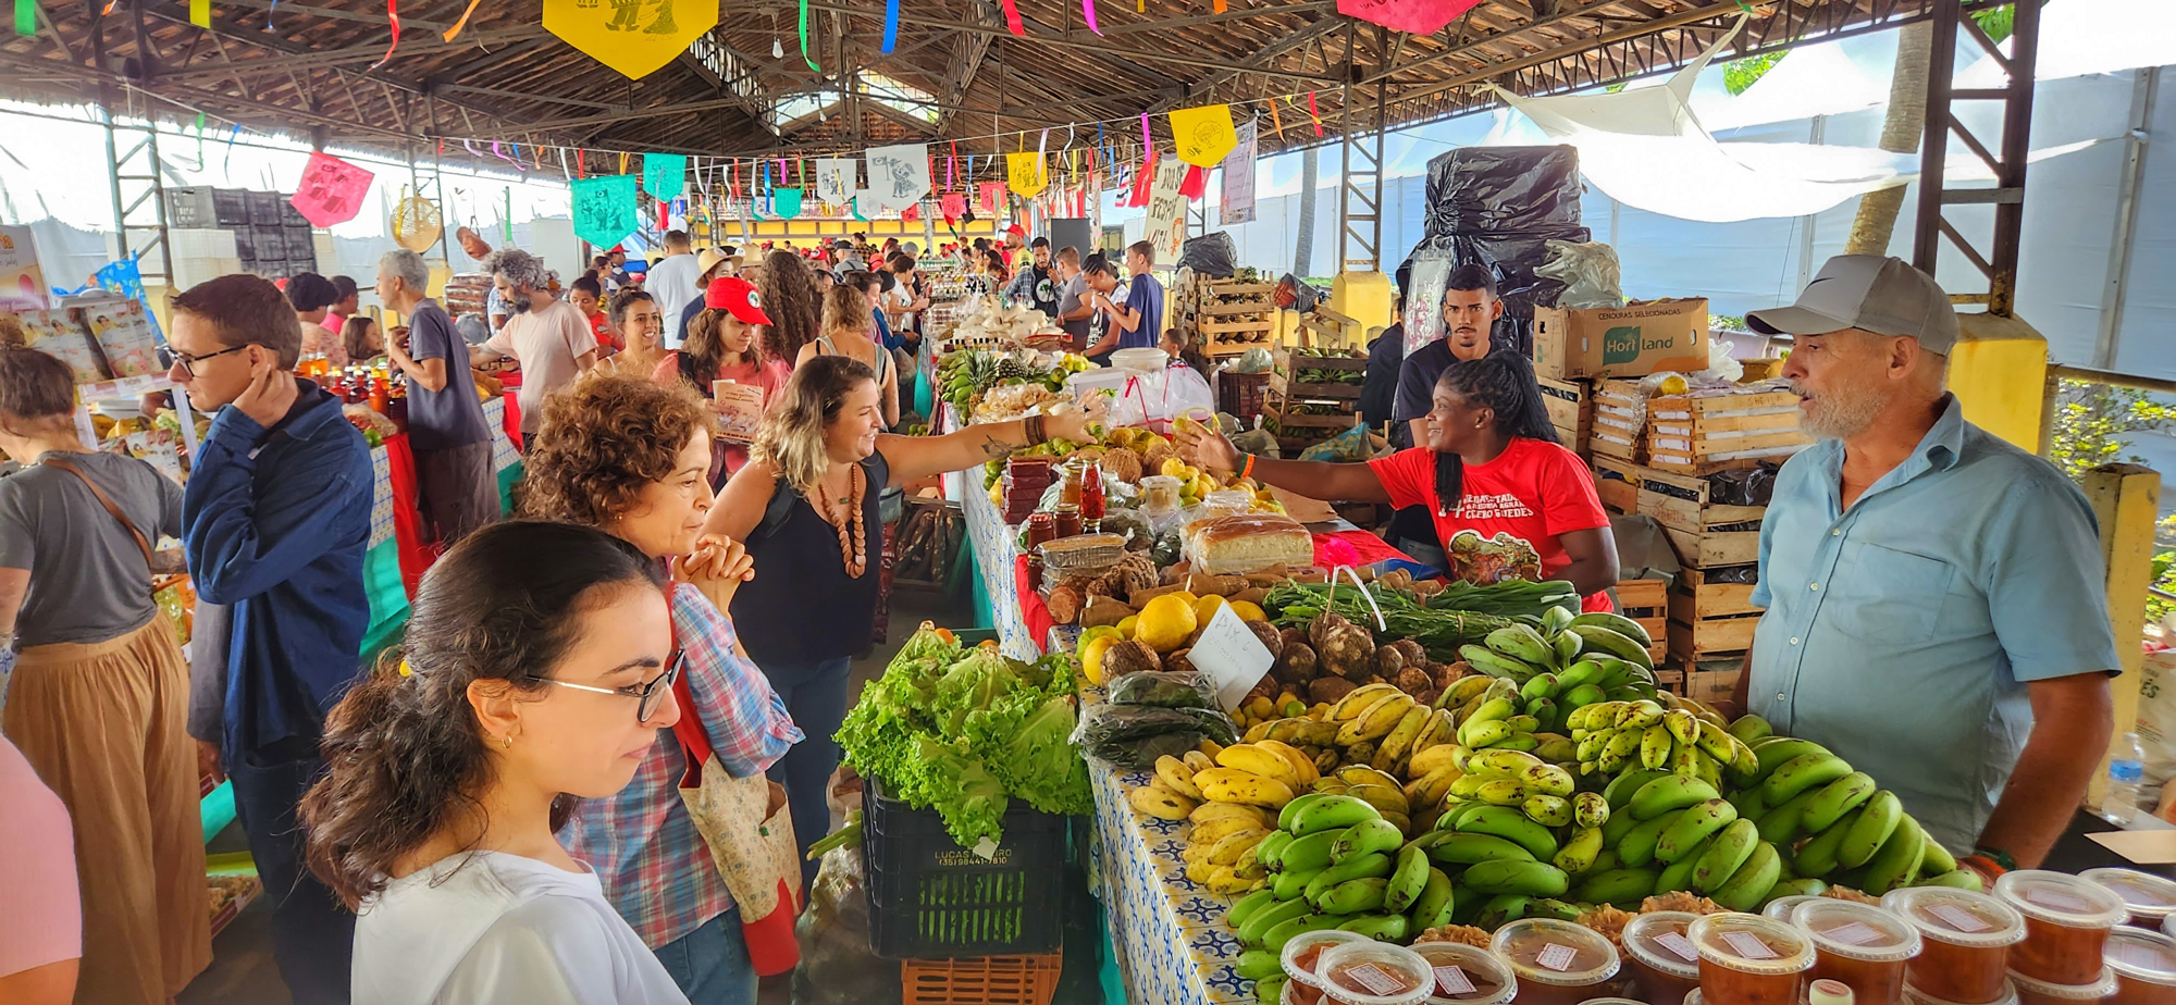
[[[731,618],[701,590],[672,585],[672,629],[688,655],[683,674],[718,764],[735,779],[762,774],[801,729],[786,716],[786,700],[749,661]],[[635,779],[611,798],[585,798],[559,829],[566,851],[596,870],[605,898],[651,948],[662,948],[703,922],[733,909],[709,846],[696,833],[679,779],[688,755],[670,729],[657,731]]]

